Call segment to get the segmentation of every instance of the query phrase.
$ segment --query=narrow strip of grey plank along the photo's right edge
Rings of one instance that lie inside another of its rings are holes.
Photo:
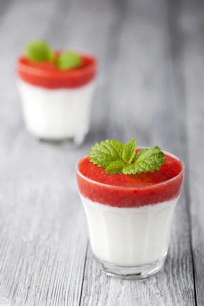
[[[186,93],[186,137],[188,140],[188,181],[191,239],[197,305],[203,305],[204,225],[203,225],[203,8],[200,1],[182,2],[180,31],[183,33],[183,65]]]

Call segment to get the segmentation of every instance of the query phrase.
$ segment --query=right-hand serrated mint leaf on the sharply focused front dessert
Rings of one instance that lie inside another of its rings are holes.
[[[125,165],[122,172],[124,174],[154,172],[155,170],[160,170],[160,166],[164,163],[164,153],[158,146],[154,146],[150,149],[139,151],[134,158],[134,164]]]

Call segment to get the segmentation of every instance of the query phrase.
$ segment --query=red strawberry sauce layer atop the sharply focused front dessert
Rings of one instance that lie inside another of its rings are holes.
[[[88,157],[82,158],[77,171],[80,193],[94,202],[123,208],[172,200],[181,193],[184,180],[183,164],[167,152],[165,160],[161,169],[153,173],[125,175],[106,174],[104,168],[91,163]],[[92,181],[86,180],[86,177]]]

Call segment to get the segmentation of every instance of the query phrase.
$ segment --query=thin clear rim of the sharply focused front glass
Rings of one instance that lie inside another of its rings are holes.
[[[138,147],[139,149],[143,149],[143,148],[147,148],[149,149],[149,147],[144,147],[144,146],[139,146]],[[172,154],[171,152],[169,151],[165,151],[165,150],[162,150],[162,152],[164,152],[165,155],[167,156],[171,156],[173,157],[174,159],[176,159],[177,161],[180,161],[181,164],[182,164],[182,170],[179,174],[177,174],[176,176],[172,177],[172,179],[170,180],[167,180],[167,181],[164,181],[164,182],[161,182],[161,183],[157,183],[157,184],[151,184],[151,185],[145,185],[145,186],[115,186],[115,185],[109,185],[109,184],[104,184],[104,183],[100,183],[100,182],[96,182],[94,180],[91,180],[89,179],[88,177],[86,177],[84,174],[82,174],[79,170],[79,163],[85,159],[88,155],[85,155],[83,157],[81,157],[77,163],[75,164],[75,170],[77,171],[77,173],[86,181],[92,183],[92,184],[96,184],[96,185],[100,185],[100,186],[105,186],[105,187],[108,187],[108,188],[115,188],[115,189],[144,189],[144,188],[154,188],[156,186],[162,186],[162,185],[166,185],[168,183],[171,183],[173,181],[176,181],[177,179],[179,179],[180,176],[182,176],[182,174],[184,173],[185,171],[185,164],[183,162],[183,160],[181,160],[179,157],[177,157],[176,155]],[[115,175],[115,174],[114,174]]]

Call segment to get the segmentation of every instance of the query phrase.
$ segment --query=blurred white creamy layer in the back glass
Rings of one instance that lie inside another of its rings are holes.
[[[25,125],[41,139],[84,138],[89,130],[94,81],[74,89],[45,89],[21,80]]]

